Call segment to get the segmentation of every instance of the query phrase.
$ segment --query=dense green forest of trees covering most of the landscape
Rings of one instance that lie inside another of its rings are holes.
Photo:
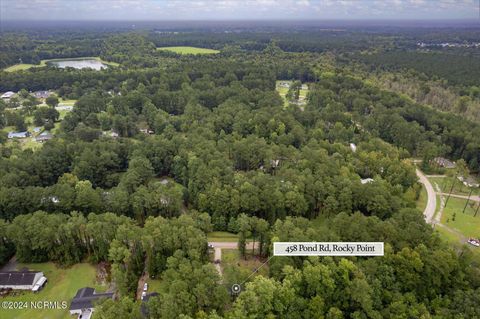
[[[2,34],[5,66],[81,56],[120,65],[0,71],[0,91],[20,91],[0,100],[0,264],[14,254],[109,263],[118,298],[94,318],[141,318],[145,272],[162,283],[149,318],[480,317],[480,265],[416,209],[411,160],[464,160],[478,173],[480,122],[380,85],[393,64],[472,102],[477,58],[401,51],[413,31],[297,32]],[[173,45],[221,52],[155,50]],[[305,105],[285,105],[280,80],[298,81],[293,100],[308,85]],[[37,90],[74,106],[60,118],[59,100],[40,106]],[[7,138],[30,120],[54,138],[35,149]],[[233,265],[221,276],[212,231],[237,234],[241,257],[268,262],[267,275]],[[385,256],[272,257],[276,241],[383,241]]]

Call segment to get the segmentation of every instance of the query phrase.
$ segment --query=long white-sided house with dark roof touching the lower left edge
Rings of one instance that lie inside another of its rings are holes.
[[[18,289],[38,291],[47,282],[47,278],[41,271],[0,272],[0,289]]]

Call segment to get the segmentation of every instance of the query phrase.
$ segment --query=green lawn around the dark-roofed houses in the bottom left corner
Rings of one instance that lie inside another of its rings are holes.
[[[19,264],[18,268],[28,267],[32,270],[43,271],[48,282],[38,293],[30,291],[19,292],[18,295],[9,295],[0,298],[1,301],[70,301],[77,293],[77,290],[86,286],[95,288],[98,291],[105,291],[107,287],[95,283],[96,269],[86,263],[76,264],[70,268],[63,269],[56,267],[53,263],[40,264]],[[68,313],[68,305],[63,309],[24,309],[24,310],[0,310],[2,319],[63,319],[71,318]]]

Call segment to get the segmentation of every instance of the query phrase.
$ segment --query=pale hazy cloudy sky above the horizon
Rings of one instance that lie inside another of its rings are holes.
[[[0,19],[479,19],[479,0],[0,0]]]

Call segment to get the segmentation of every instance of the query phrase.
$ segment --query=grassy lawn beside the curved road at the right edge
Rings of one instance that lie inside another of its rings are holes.
[[[447,207],[443,210],[442,224],[462,233],[465,237],[480,237],[480,213],[474,217],[475,207],[467,206],[465,213],[462,213],[465,203],[464,199],[450,197]],[[473,203],[470,201],[470,203]],[[456,213],[455,220],[453,214]]]

